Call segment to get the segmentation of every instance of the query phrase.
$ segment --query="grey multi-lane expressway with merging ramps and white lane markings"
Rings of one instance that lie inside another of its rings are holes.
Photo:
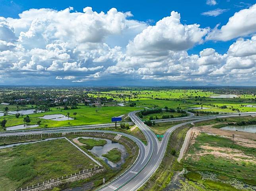
[[[167,144],[169,141],[169,137],[171,133],[178,127],[183,126],[185,124],[189,124],[190,122],[200,122],[204,120],[211,120],[214,118],[225,118],[225,117],[238,117],[239,114],[229,114],[229,115],[215,115],[215,116],[208,116],[208,117],[185,117],[190,118],[192,121],[183,122],[181,124],[175,125],[167,130],[165,133],[162,141],[160,142],[155,134],[149,129],[148,126],[140,120],[135,114],[138,111],[133,111],[129,113],[129,117],[131,118],[132,122],[136,124],[140,130],[144,133],[145,138],[147,139],[147,145],[144,145],[142,141],[138,138],[130,136],[128,134],[119,133],[123,136],[131,138],[134,140],[139,149],[139,155],[137,160],[134,164],[126,170],[123,174],[112,180],[111,182],[103,185],[99,190],[101,191],[113,191],[113,190],[121,190],[121,191],[134,191],[140,188],[149,178],[150,176],[157,170],[159,167],[164,154],[167,148]],[[255,112],[250,113],[240,113],[241,116],[246,115],[255,115]],[[179,118],[178,120],[184,120],[184,118]],[[173,121],[175,119],[170,119],[169,121]],[[177,120],[177,119],[176,119]],[[160,121],[159,121],[160,122]],[[164,122],[167,122],[165,120]],[[107,124],[106,126],[108,126]],[[83,126],[83,127],[76,127],[76,128],[54,128],[51,130],[30,130],[30,131],[20,131],[20,132],[6,132],[0,133],[0,136],[12,136],[12,135],[26,135],[26,134],[45,134],[45,133],[60,133],[60,132],[109,132],[109,133],[116,133],[112,131],[103,131],[103,130],[83,130],[84,128],[102,128],[105,125],[97,125],[97,126]],[[83,128],[83,129],[82,129]]]

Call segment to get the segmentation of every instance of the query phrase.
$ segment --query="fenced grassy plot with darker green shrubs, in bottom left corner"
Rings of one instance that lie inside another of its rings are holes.
[[[36,185],[96,164],[65,139],[0,149],[1,190]]]

